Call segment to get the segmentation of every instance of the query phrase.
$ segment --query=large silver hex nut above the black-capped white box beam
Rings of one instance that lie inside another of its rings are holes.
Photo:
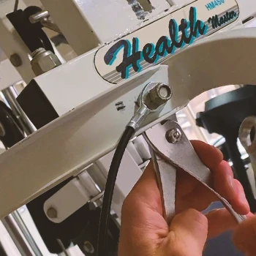
[[[34,59],[31,60],[31,68],[35,75],[42,75],[60,65],[61,61],[50,50],[39,52],[34,56]]]

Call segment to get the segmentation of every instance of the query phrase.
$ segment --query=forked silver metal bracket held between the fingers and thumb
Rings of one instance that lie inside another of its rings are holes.
[[[172,129],[179,129],[182,134],[181,140],[175,144],[168,143],[165,137],[166,132]],[[191,176],[197,178],[197,180],[210,189],[211,192],[214,192],[237,222],[242,222],[246,219],[245,216],[236,214],[232,206],[230,206],[230,203],[212,189],[211,171],[200,161],[200,158],[195,153],[194,148],[178,123],[175,121],[167,121],[165,124],[157,124],[155,127],[146,131],[145,138],[153,151],[152,159],[159,178],[160,187],[162,188],[168,223],[170,223],[171,218],[174,216],[176,167],[182,168]],[[169,197],[173,199],[170,200]]]

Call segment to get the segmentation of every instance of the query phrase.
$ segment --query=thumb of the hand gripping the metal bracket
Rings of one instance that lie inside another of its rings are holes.
[[[208,220],[200,211],[189,209],[176,215],[168,236],[170,255],[201,256],[207,233]]]

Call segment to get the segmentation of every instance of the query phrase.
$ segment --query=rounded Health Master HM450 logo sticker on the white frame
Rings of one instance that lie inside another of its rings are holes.
[[[222,29],[236,20],[238,15],[234,0],[195,1],[100,48],[95,56],[97,71],[110,83],[120,83],[143,69],[165,61],[197,39]],[[102,60],[105,67],[98,64]]]

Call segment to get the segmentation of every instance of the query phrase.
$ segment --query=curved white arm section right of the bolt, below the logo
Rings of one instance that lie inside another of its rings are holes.
[[[207,37],[168,59],[172,101],[183,105],[219,86],[256,85],[256,28],[238,29]]]

